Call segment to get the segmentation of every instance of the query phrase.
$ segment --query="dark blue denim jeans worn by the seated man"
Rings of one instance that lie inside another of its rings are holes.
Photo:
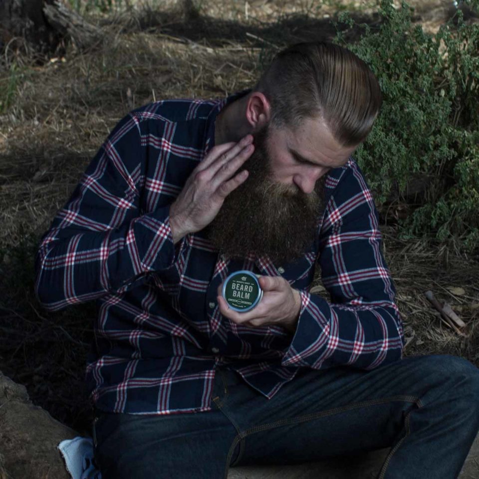
[[[97,411],[103,479],[224,479],[231,466],[298,464],[391,448],[379,479],[456,479],[479,430],[479,369],[404,358],[371,371],[301,368],[270,400],[218,369],[212,411]]]

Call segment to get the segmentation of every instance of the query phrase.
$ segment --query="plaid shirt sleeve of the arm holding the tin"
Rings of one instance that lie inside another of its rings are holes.
[[[381,252],[378,213],[359,168],[350,163],[320,232],[317,261],[331,300],[300,290],[299,320],[283,366],[373,369],[402,358],[403,326]]]

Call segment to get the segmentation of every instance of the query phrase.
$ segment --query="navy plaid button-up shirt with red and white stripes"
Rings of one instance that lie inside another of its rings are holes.
[[[301,367],[372,369],[402,357],[378,215],[352,158],[329,172],[316,240],[296,261],[230,259],[202,232],[174,245],[170,205],[214,145],[218,112],[244,93],[160,101],[127,115],[41,239],[35,284],[44,307],[96,300],[86,376],[100,409],[207,411],[218,365],[271,398]],[[308,292],[316,265],[329,297]],[[220,314],[217,288],[237,269],[281,275],[300,291],[294,335]]]

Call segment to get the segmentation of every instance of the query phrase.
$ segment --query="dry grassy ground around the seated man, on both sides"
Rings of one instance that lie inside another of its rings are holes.
[[[415,21],[432,33],[455,8],[446,0],[410,4]],[[111,128],[157,99],[218,97],[249,87],[267,51],[331,39],[331,20],[344,9],[374,24],[375,8],[346,0],[211,1],[169,13],[143,6],[90,17],[104,31],[90,51],[66,44],[41,63],[26,45],[7,47],[0,66],[0,88],[10,99],[0,114],[0,370],[24,384],[36,404],[88,432],[83,369],[95,309],[42,310],[33,294],[33,259],[39,236]],[[386,206],[380,214],[406,356],[453,354],[479,365],[479,257],[398,240],[400,209]],[[464,321],[459,332],[431,307],[428,290]]]

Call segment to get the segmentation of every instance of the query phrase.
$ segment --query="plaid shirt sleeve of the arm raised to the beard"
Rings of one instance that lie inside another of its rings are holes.
[[[141,212],[140,127],[133,115],[118,123],[41,238],[35,294],[46,309],[122,293],[179,260],[186,237],[175,247],[170,205]]]

